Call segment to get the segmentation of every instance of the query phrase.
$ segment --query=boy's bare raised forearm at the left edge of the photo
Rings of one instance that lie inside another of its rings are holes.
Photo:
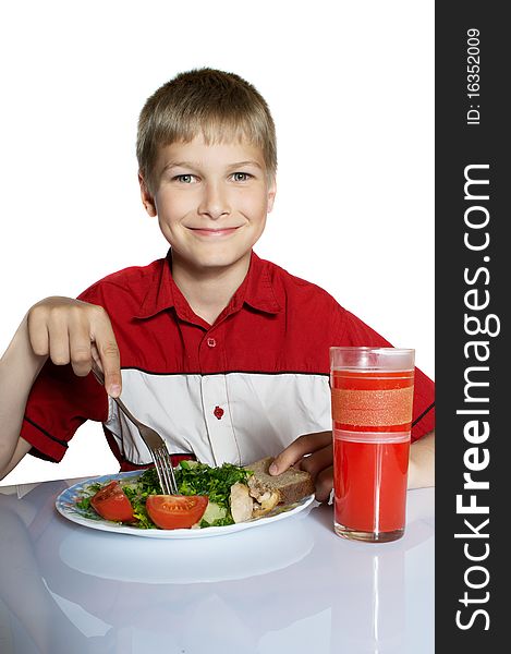
[[[12,469],[14,455],[19,460],[27,449],[19,445],[20,431],[28,393],[46,360],[32,349],[25,316],[0,360],[0,479]]]

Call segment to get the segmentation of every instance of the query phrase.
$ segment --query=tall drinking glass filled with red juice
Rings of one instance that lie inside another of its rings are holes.
[[[330,348],[334,530],[345,538],[404,533],[414,350]]]

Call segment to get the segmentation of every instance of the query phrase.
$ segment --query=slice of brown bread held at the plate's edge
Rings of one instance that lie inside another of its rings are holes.
[[[314,494],[314,483],[308,472],[292,465],[281,474],[271,475],[268,469],[272,461],[273,457],[266,457],[245,465],[245,470],[252,470],[254,473],[248,480],[248,486],[252,491],[260,494],[278,492],[279,504],[284,505],[299,501],[307,495]]]

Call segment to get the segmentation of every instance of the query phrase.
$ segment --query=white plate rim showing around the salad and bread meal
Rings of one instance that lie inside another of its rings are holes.
[[[226,526],[207,526],[205,529],[138,529],[136,526],[127,526],[118,522],[110,522],[108,520],[88,518],[84,511],[77,506],[76,501],[80,499],[81,492],[90,486],[90,484],[107,484],[112,480],[125,480],[130,477],[137,477],[142,474],[141,471],[135,470],[133,472],[120,472],[118,474],[106,474],[100,477],[93,477],[85,480],[74,486],[70,486],[63,491],[56,499],[56,507],[59,513],[61,513],[68,520],[89,526],[90,529],[99,529],[101,531],[108,531],[115,534],[130,534],[132,536],[145,536],[146,538],[205,538],[211,536],[223,536],[232,534],[245,529],[252,529],[253,526],[263,526],[279,520],[284,520],[291,516],[300,513],[314,501],[314,495],[304,497],[301,501],[297,501],[287,507],[280,507],[278,512],[273,512],[265,518],[258,518],[255,520],[248,520],[247,522],[239,522],[238,524],[228,524]]]

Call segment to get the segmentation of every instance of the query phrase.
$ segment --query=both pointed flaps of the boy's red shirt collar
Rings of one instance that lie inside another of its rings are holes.
[[[195,316],[190,304],[186,302],[183,293],[172,277],[172,251],[169,250],[167,257],[161,259],[161,266],[151,278],[151,283],[147,288],[147,293],[141,303],[137,312],[137,318],[150,318],[156,314],[168,308],[175,308],[178,315],[184,319],[192,319]],[[267,262],[260,259],[254,252],[251,255],[251,265],[245,279],[235,291],[229,305],[226,307],[226,314],[239,311],[246,303],[257,311],[276,314],[281,310],[277,302],[273,284],[270,279]]]

